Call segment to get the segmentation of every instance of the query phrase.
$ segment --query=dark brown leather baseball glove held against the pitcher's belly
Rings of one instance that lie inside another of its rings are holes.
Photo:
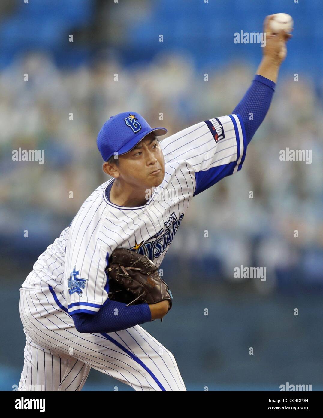
[[[127,306],[167,300],[169,309],[172,308],[172,293],[160,278],[158,267],[146,255],[117,248],[109,258],[106,273],[110,279],[111,300],[126,303]]]

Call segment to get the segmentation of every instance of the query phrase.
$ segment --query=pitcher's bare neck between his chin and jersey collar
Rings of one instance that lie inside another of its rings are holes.
[[[110,201],[117,206],[143,206],[149,200],[151,193],[148,193],[147,189],[141,190],[139,188],[134,188],[116,178],[110,190]],[[146,197],[148,197],[148,199],[146,199]]]

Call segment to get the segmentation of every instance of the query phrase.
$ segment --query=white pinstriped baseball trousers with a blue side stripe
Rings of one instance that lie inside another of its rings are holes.
[[[149,344],[141,339],[146,331],[140,326],[107,334],[117,344],[100,334],[81,334],[50,296],[41,290],[20,291],[19,311],[27,342],[18,390],[36,384],[45,384],[46,390],[81,390],[91,367],[135,390],[185,390],[172,353],[152,336]]]

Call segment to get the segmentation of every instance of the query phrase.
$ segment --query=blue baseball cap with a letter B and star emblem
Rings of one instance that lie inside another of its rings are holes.
[[[146,135],[165,135],[166,128],[154,128],[137,112],[123,112],[111,116],[101,127],[96,143],[104,161],[117,152],[119,155],[132,150]],[[160,141],[160,140],[159,140]]]

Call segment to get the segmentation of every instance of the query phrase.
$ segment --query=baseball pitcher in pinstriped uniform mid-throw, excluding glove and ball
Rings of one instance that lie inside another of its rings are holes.
[[[137,112],[104,123],[97,145],[112,178],[88,196],[20,289],[26,344],[18,390],[81,390],[91,367],[134,390],[186,390],[173,354],[140,326],[162,319],[169,300],[111,300],[109,257],[132,250],[159,267],[192,198],[241,169],[289,37],[267,36],[255,78],[231,115],[163,140],[167,129],[152,129]]]

